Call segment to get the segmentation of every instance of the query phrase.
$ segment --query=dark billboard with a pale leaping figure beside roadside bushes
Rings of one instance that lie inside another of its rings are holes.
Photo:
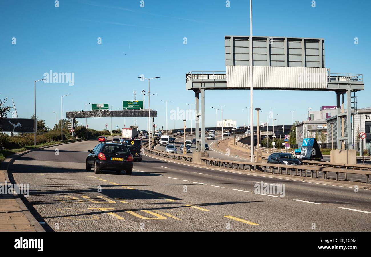
[[[3,132],[31,133],[34,132],[33,119],[0,118],[0,127]]]

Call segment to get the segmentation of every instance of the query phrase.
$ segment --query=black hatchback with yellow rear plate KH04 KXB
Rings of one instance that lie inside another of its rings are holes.
[[[116,143],[100,143],[93,150],[88,150],[86,170],[94,168],[94,173],[101,170],[115,170],[120,173],[125,170],[127,175],[133,171],[133,156],[127,146]]]

